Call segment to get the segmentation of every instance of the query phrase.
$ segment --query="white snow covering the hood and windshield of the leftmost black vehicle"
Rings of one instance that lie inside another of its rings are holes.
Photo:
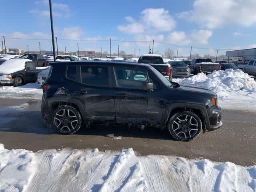
[[[10,59],[0,65],[0,73],[11,74],[17,71],[24,70],[26,62],[29,59]]]

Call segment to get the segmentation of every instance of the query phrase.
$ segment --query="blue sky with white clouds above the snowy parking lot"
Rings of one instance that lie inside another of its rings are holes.
[[[192,54],[215,54],[215,50],[199,48],[256,47],[255,0],[120,0],[82,1],[52,0],[54,33],[59,39],[58,49],[95,50],[109,52],[109,42],[78,40],[108,40],[112,38],[112,53],[120,50],[138,54],[148,52],[150,42],[118,42],[137,40],[192,46]],[[9,38],[43,38],[50,36],[48,0],[1,2],[1,35]],[[38,41],[44,50],[50,50],[50,40],[6,39],[7,48],[38,50]],[[154,51],[164,53],[166,48],[179,49],[188,55],[190,48],[155,43]],[[220,51],[219,54],[224,54]],[[179,54],[179,55],[180,55]]]

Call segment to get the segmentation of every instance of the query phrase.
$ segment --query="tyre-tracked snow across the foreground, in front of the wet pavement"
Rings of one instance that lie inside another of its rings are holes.
[[[0,144],[0,191],[255,192],[256,166],[121,152],[7,150]]]

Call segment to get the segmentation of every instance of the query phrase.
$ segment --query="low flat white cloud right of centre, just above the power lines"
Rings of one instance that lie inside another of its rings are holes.
[[[208,44],[212,31],[198,30],[186,35],[184,31],[173,31],[167,36],[167,41],[176,45]]]

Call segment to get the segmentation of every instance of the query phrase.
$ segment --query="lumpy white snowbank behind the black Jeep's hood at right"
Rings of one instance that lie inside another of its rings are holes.
[[[223,108],[256,111],[256,81],[241,70],[220,70],[209,75],[199,73],[173,81],[195,84],[214,91]]]

